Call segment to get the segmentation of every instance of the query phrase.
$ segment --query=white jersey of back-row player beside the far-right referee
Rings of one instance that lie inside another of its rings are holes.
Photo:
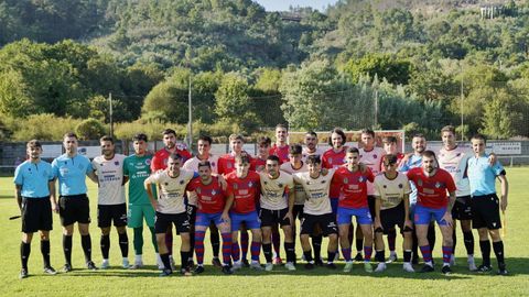
[[[442,147],[438,153],[439,167],[445,169],[454,178],[455,186],[455,196],[469,196],[471,195],[471,184],[468,183],[468,177],[465,176],[466,163],[468,157],[473,155],[471,148],[455,146],[452,150],[446,150]]]

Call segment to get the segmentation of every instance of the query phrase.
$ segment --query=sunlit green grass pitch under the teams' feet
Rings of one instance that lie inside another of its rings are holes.
[[[337,271],[316,268],[306,272],[300,265],[294,273],[287,272],[283,267],[274,267],[271,273],[257,273],[242,270],[236,275],[225,276],[218,268],[206,266],[206,273],[199,276],[169,278],[158,277],[154,267],[154,252],[145,231],[144,262],[151,264],[144,270],[126,271],[119,267],[121,256],[117,245],[116,232],[111,238],[110,264],[116,265],[110,270],[89,272],[84,270],[84,256],[80,248],[78,232],[74,234],[73,266],[74,272],[46,276],[42,274],[42,256],[39,239],[35,237],[29,263],[30,277],[19,279],[20,272],[20,220],[9,221],[8,218],[19,213],[13,198],[12,177],[0,178],[0,220],[1,228],[1,267],[0,296],[527,296],[529,295],[529,253],[527,239],[529,238],[529,223],[526,217],[529,209],[527,199],[527,180],[529,167],[508,168],[510,184],[509,206],[507,209],[507,235],[505,238],[505,253],[509,276],[483,275],[469,273],[466,268],[466,252],[458,231],[457,265],[454,273],[443,276],[438,264],[436,272],[431,274],[404,274],[401,263],[390,264],[387,272],[381,274],[367,274],[361,264],[355,264],[352,273],[344,274],[344,263],[338,262]],[[96,188],[90,184],[89,197],[91,199],[91,217],[96,218]],[[100,264],[99,230],[97,224],[90,226],[93,239],[93,257],[97,265]],[[131,232],[129,241],[131,242]],[[208,238],[206,235],[206,238]],[[477,239],[477,234],[475,234]],[[52,265],[58,270],[64,264],[61,243],[61,227],[58,216],[54,217],[54,231],[52,231]],[[436,263],[441,263],[441,235],[438,232],[438,243],[434,251]],[[179,245],[179,243],[175,243]],[[398,239],[397,245],[401,244]],[[132,244],[130,256],[133,261]],[[298,244],[299,245],[299,244]],[[210,261],[209,244],[206,243],[206,263]],[[179,246],[175,246],[179,248]],[[209,249],[209,251],[207,251]],[[176,250],[177,251],[177,250]],[[325,250],[324,250],[325,251]],[[324,252],[322,252],[324,254]],[[298,246],[298,255],[301,250]],[[402,258],[399,249],[399,257]],[[180,257],[177,257],[180,261]],[[481,254],[476,244],[476,260],[479,264]],[[301,261],[300,261],[301,262]],[[496,260],[493,253],[493,265]],[[415,268],[420,268],[415,266]],[[168,295],[170,294],[170,295]]]

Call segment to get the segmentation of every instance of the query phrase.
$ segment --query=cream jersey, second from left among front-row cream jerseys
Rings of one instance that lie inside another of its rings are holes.
[[[268,210],[281,210],[289,207],[285,195],[294,190],[294,179],[284,172],[279,172],[278,178],[270,178],[266,173],[259,173],[261,178],[261,208]]]

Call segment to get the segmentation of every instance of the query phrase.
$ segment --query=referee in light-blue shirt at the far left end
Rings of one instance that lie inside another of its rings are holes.
[[[44,273],[54,275],[50,264],[50,230],[53,226],[52,211],[58,211],[57,202],[50,193],[55,191],[52,166],[41,160],[42,144],[31,140],[25,145],[29,160],[17,166],[14,170],[14,197],[22,216],[22,242],[20,258],[22,270],[20,278],[28,277],[28,260],[31,252],[33,233],[41,233],[41,253],[44,261]]]

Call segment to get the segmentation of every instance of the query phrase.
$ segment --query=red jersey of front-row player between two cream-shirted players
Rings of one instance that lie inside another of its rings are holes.
[[[367,207],[367,182],[373,183],[373,175],[369,167],[365,173],[356,170],[349,172],[347,167],[339,167],[333,176],[333,184],[337,185],[339,191],[339,207],[364,208]]]

